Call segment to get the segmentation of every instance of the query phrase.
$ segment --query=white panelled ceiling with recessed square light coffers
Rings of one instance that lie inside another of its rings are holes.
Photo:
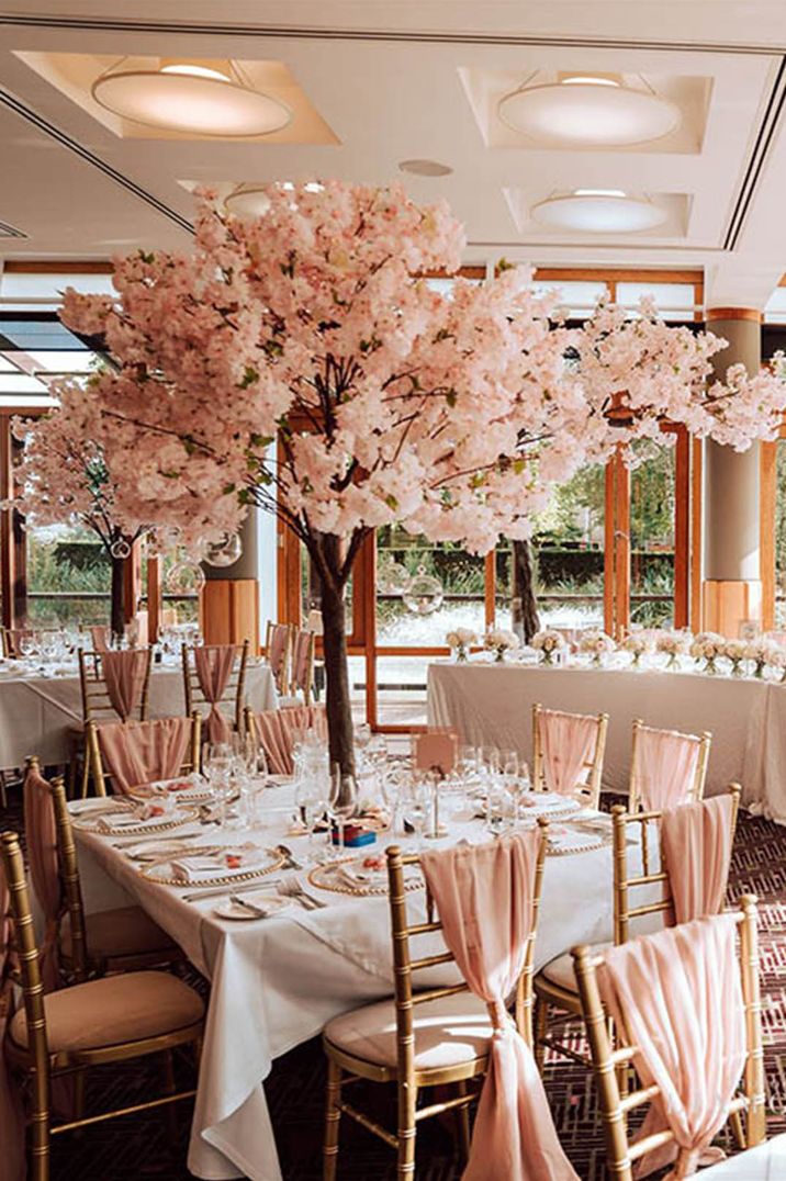
[[[339,143],[122,138],[20,53],[279,60]],[[468,262],[701,267],[710,304],[762,307],[786,272],[785,63],[785,0],[0,0],[0,222],[26,235],[0,254],[187,249],[183,182],[405,180],[466,222]],[[701,78],[709,99],[690,150],[487,146],[462,79],[533,70]],[[404,178],[408,158],[454,172]],[[586,187],[678,196],[682,211],[616,237],[557,236],[527,216]]]

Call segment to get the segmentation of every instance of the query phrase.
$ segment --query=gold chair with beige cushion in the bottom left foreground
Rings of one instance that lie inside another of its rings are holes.
[[[51,1137],[121,1115],[191,1098],[196,1091],[175,1091],[170,1071],[165,1094],[97,1115],[53,1123],[52,1082],[79,1077],[92,1066],[128,1062],[152,1053],[193,1048],[199,1055],[204,1005],[201,997],[168,972],[129,972],[89,980],[44,994],[30,895],[19,839],[0,837],[2,872],[11,895],[14,950],[19,961],[22,1005],[6,1023],[4,1053],[9,1069],[31,1084],[30,1128],[33,1181],[48,1181]]]

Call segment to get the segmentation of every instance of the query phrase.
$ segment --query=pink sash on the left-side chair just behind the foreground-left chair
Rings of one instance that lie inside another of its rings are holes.
[[[44,987],[52,992],[60,984],[58,934],[63,915],[63,888],[57,855],[57,824],[50,785],[40,771],[28,768],[24,787],[25,835],[33,892],[46,922],[40,951]]]

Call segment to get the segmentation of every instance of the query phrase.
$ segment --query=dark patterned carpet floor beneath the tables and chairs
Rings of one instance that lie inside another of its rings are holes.
[[[5,820],[17,827],[11,809]],[[5,823],[2,827],[6,827]],[[768,1084],[768,1131],[786,1130],[786,828],[760,818],[740,820],[730,876],[730,895],[746,892],[760,899],[764,1031]],[[196,981],[204,987],[203,981]],[[578,1037],[578,1029],[577,1029]],[[182,1082],[188,1081],[183,1074]],[[92,1096],[97,1107],[132,1103],[135,1096],[158,1087],[155,1065],[96,1072]],[[310,1042],[280,1058],[266,1082],[266,1092],[285,1181],[318,1181],[321,1176],[320,1140],[324,1068],[319,1043]],[[546,1089],[561,1142],[583,1181],[604,1177],[603,1137],[597,1122],[590,1074],[566,1062],[546,1066]],[[392,1096],[372,1088],[377,1115],[395,1127]],[[91,1094],[89,1092],[89,1102]],[[385,1110],[386,1109],[386,1110]],[[132,1181],[189,1177],[184,1161],[190,1105],[175,1109],[174,1120],[162,1113],[115,1121],[80,1136],[54,1141],[53,1181]],[[454,1181],[461,1175],[452,1128],[427,1121],[418,1131],[418,1181]],[[342,1131],[340,1181],[386,1181],[395,1177],[394,1154],[350,1121]],[[502,1181],[502,1179],[489,1179]]]

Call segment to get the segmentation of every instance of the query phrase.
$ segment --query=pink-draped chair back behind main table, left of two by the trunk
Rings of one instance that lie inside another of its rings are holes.
[[[96,794],[106,795],[106,778],[117,795],[135,787],[190,775],[200,765],[202,719],[155,718],[152,722],[87,723],[87,761]]]

